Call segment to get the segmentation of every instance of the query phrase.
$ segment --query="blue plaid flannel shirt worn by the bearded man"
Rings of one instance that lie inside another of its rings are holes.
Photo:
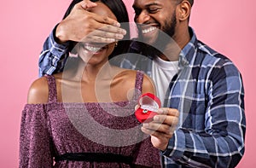
[[[180,120],[165,151],[162,167],[235,167],[244,154],[246,119],[241,73],[224,55],[192,38],[182,49],[179,71],[166,91],[165,107],[177,108]],[[61,72],[68,43],[55,43],[52,32],[39,58],[39,75]],[[120,67],[151,76],[152,61],[137,42]],[[132,54],[136,53],[136,54]]]

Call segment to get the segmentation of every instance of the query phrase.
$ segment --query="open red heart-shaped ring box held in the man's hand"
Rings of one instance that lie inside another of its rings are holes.
[[[137,120],[141,123],[150,122],[161,106],[160,99],[151,93],[145,93],[138,99],[139,108],[135,112]]]

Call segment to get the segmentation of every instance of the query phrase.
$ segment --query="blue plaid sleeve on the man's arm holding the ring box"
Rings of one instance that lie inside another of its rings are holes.
[[[222,55],[214,57],[214,63],[204,65],[205,59],[193,65],[191,83],[194,90],[204,93],[187,97],[192,102],[187,119],[175,131],[166,151],[160,152],[166,167],[235,167],[244,154],[246,120],[241,74]],[[179,82],[177,79],[176,84]]]

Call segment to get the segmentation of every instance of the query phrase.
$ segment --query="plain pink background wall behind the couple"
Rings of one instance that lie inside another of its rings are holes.
[[[4,1],[0,6],[0,167],[18,167],[20,112],[27,90],[38,78],[38,55],[44,39],[61,20],[71,0]],[[125,0],[132,10],[132,0]],[[255,0],[195,0],[190,25],[197,37],[230,57],[240,69],[246,91],[246,153],[238,167],[254,167],[256,95],[253,40],[256,39]],[[254,101],[255,102],[255,101]],[[255,127],[255,128],[254,128]]]

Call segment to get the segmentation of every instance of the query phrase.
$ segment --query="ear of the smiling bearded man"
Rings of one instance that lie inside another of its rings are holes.
[[[177,19],[180,21],[189,20],[191,12],[191,4],[187,0],[183,0],[182,3],[177,5]]]

